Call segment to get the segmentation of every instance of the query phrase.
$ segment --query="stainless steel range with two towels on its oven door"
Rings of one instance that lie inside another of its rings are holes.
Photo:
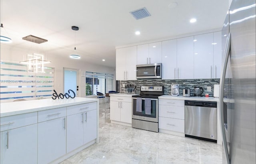
[[[164,86],[141,86],[140,95],[132,96],[132,127],[158,132],[158,97]]]

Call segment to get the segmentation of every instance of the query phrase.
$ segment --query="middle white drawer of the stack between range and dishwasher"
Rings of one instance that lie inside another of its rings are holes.
[[[184,107],[169,106],[169,105],[159,105],[159,117],[168,117],[173,119],[184,120]]]

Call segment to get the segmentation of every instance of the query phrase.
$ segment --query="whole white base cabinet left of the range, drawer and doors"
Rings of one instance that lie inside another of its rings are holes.
[[[132,124],[132,97],[110,97],[110,120]]]

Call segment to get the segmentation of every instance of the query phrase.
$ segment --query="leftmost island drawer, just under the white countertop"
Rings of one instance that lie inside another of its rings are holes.
[[[13,115],[2,117],[0,119],[0,131],[10,130],[22,126],[37,123],[37,112],[25,113],[21,115]]]

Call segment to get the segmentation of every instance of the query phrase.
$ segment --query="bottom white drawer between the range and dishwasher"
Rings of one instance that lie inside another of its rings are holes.
[[[160,129],[172,130],[172,131],[183,132],[183,133],[185,131],[184,120],[170,119],[166,117],[159,117],[158,119],[159,119],[158,127]]]

